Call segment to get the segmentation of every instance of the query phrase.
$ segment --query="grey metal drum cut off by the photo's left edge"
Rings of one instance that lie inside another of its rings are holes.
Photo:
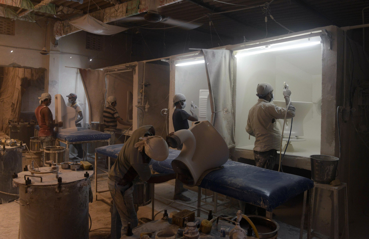
[[[22,171],[22,148],[6,146],[0,148],[0,203],[18,198],[18,188],[12,186],[12,175]]]

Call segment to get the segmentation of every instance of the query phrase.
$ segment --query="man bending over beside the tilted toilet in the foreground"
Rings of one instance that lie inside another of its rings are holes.
[[[152,125],[142,126],[133,132],[108,174],[108,188],[113,198],[111,239],[124,236],[128,222],[131,223],[131,228],[138,225],[133,203],[133,183],[163,183],[176,177],[175,173],[151,174],[148,165],[150,160],[165,160],[169,155],[169,148],[161,136],[145,135],[155,135]]]

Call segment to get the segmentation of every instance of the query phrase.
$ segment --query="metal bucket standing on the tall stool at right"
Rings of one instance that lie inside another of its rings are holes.
[[[317,183],[330,184],[336,178],[338,157],[310,155],[311,179]]]

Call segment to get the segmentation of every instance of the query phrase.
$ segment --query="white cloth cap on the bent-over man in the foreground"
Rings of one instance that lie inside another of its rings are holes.
[[[135,148],[142,152],[145,147],[145,153],[151,159],[156,161],[164,161],[169,156],[168,144],[161,136],[148,136],[140,138],[141,141],[135,143]]]

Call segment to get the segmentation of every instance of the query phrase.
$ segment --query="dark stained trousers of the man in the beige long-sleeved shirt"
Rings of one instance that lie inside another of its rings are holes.
[[[273,170],[277,158],[277,150],[271,149],[265,152],[259,152],[254,150],[255,165],[264,169]],[[258,209],[258,215],[265,217],[266,210],[261,207],[256,207],[252,204],[246,203],[245,215],[255,215],[256,209]]]

